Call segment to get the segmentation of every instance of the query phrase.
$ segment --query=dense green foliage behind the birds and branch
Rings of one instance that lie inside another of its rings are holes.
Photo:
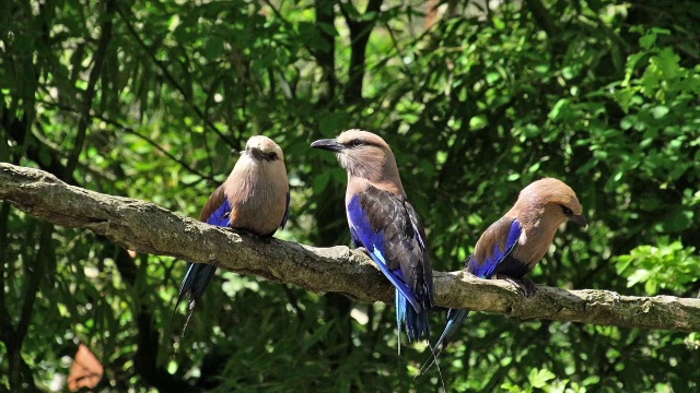
[[[348,245],[345,174],[308,144],[363,128],[393,146],[435,269],[553,176],[591,226],[560,233],[536,283],[698,296],[700,4],[489,3],[3,1],[0,160],[197,217],[264,133],[292,184],[277,236]],[[180,338],[185,266],[0,203],[0,391],[60,386],[79,343],[114,391],[440,385],[412,379],[424,346],[397,357],[392,307],[253,276],[217,276]],[[699,345],[472,313],[441,365],[451,391],[686,392]]]

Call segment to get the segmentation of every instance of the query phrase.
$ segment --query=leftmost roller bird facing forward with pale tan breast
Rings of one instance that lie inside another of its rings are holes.
[[[209,196],[199,219],[230,227],[262,238],[284,227],[289,217],[289,180],[280,146],[262,135],[253,136],[223,184]],[[179,287],[177,303],[189,295],[189,313],[183,335],[195,307],[213,277],[217,266],[190,263]]]

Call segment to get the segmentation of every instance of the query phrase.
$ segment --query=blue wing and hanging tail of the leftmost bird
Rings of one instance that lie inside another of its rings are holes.
[[[223,192],[223,186],[217,188],[211,196],[209,196],[207,204],[205,204],[205,207],[201,211],[199,221],[217,226],[231,226],[231,204]],[[185,278],[183,278],[183,283],[179,286],[177,302],[175,303],[175,309],[177,310],[177,306],[179,306],[180,301],[183,301],[186,295],[189,295],[189,312],[187,320],[185,321],[185,325],[183,326],[183,335],[185,335],[185,332],[187,331],[187,325],[192,317],[195,307],[205,294],[205,290],[215,272],[217,266],[214,265],[189,263]]]

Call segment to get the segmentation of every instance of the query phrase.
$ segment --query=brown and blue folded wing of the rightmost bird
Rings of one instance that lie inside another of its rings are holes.
[[[503,217],[491,224],[477,241],[467,263],[467,272],[481,278],[490,278],[501,272],[502,264],[511,259],[522,234],[523,226],[517,218]]]

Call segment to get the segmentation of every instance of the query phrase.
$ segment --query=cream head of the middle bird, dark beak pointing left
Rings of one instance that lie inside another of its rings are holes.
[[[311,146],[336,153],[350,177],[366,179],[373,184],[393,183],[404,193],[394,153],[381,136],[368,131],[348,130],[335,140],[318,140]]]

